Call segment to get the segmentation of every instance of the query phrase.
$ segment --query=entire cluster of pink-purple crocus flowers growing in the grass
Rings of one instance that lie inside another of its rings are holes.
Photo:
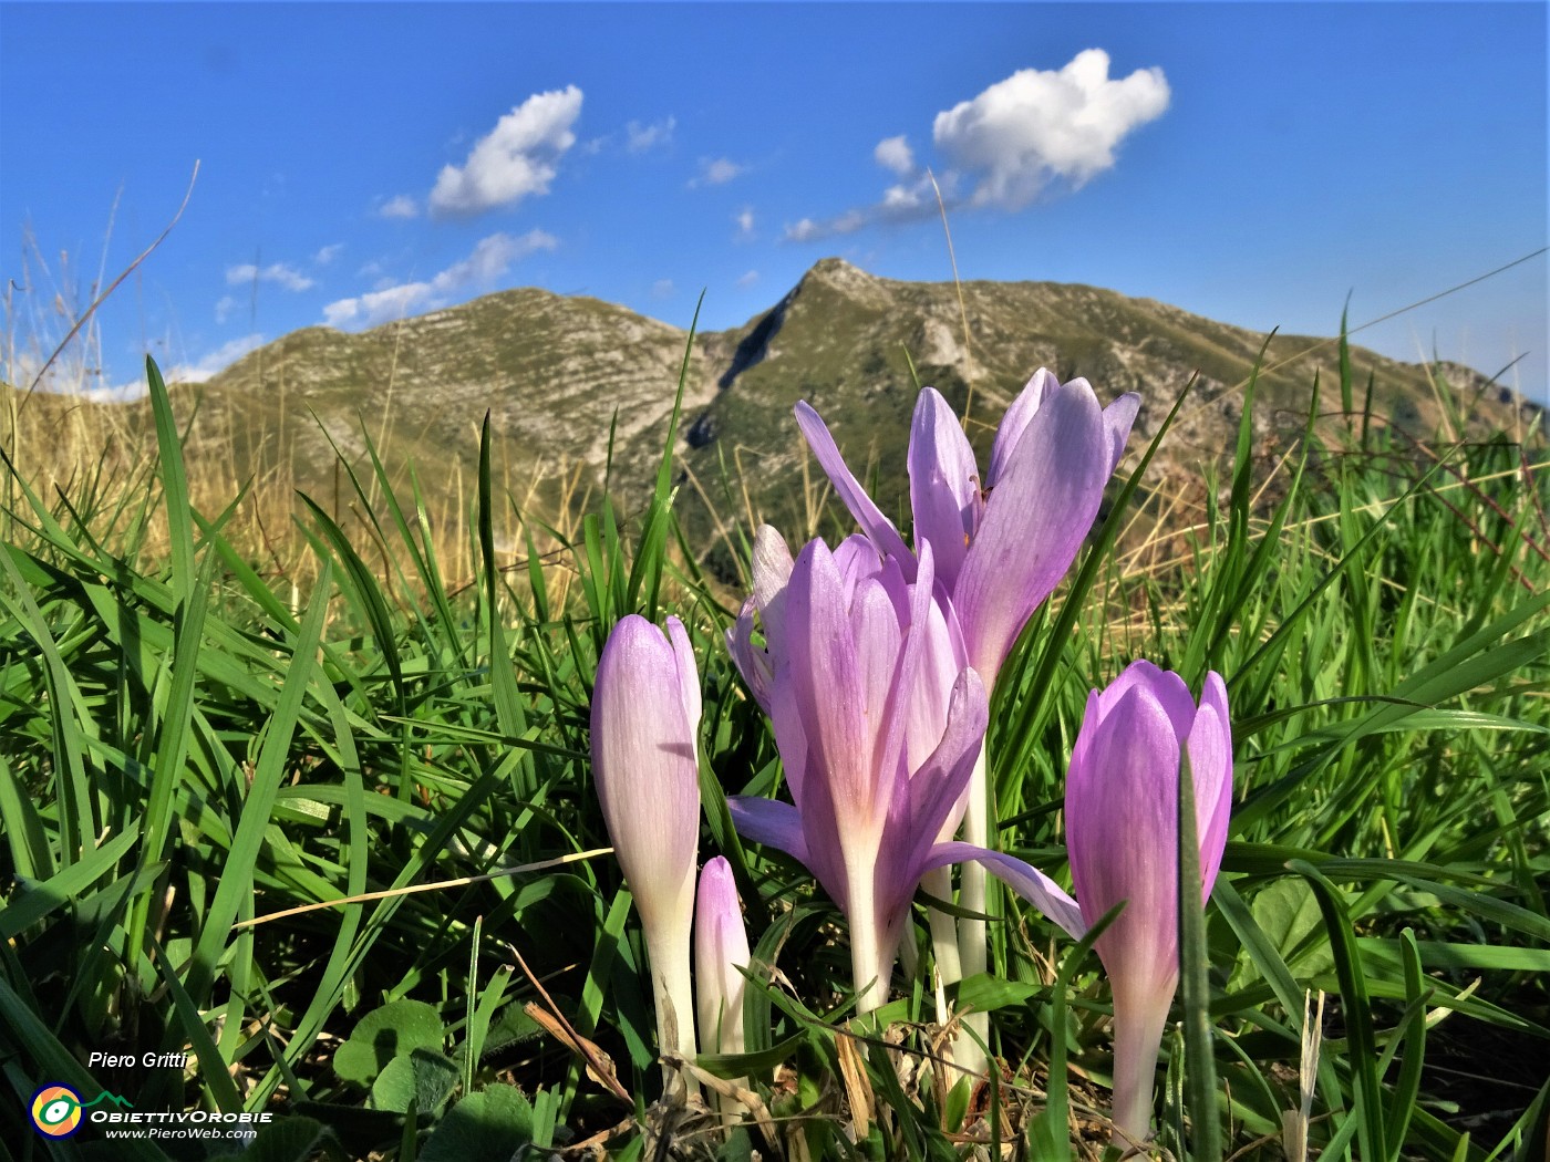
[[[1097,953],[1114,996],[1114,1123],[1139,1140],[1178,984],[1178,790],[1194,776],[1201,892],[1226,841],[1232,745],[1226,688],[1198,703],[1176,674],[1136,662],[1093,691],[1070,765],[1065,820],[1076,899],[987,846],[984,734],[994,686],[1017,637],[1068,572],[1097,516],[1138,398],[1102,407],[1085,380],[1040,370],[997,431],[981,480],[958,418],[921,392],[910,438],[914,547],[866,496],[818,418],[797,418],[862,535],[792,556],[772,528],[753,548],[753,593],[727,645],[769,714],[790,803],[733,796],[739,834],[808,866],[849,928],[859,1012],[888,995],[922,878],[964,865],[961,903],[983,911],[997,874],[1074,937],[1116,905]],[[598,665],[592,747],[598,796],[637,900],[663,1049],[694,1052],[690,925],[696,933],[701,1041],[741,1049],[747,937],[725,860],[701,874],[696,734],[699,682],[684,626],[666,635],[628,617]],[[953,841],[959,821],[964,841]],[[928,882],[935,894],[950,888]],[[978,888],[976,888],[978,885]],[[933,934],[936,931],[933,917]],[[952,923],[947,922],[952,931]],[[983,971],[983,923],[961,948],[938,939],[938,967]],[[981,1015],[983,1016],[983,1015]],[[978,1026],[983,1038],[984,1024]],[[961,1041],[959,1063],[978,1061]]]

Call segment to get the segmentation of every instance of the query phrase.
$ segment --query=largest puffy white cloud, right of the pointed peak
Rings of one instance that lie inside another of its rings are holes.
[[[1020,209],[1052,180],[1079,187],[1114,164],[1114,149],[1169,105],[1161,68],[1108,76],[1108,53],[1088,48],[1056,70],[1025,68],[936,115],[932,139],[978,174],[972,203]]]

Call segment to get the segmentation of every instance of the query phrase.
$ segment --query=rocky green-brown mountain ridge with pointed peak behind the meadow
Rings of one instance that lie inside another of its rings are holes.
[[[1431,369],[1361,347],[1350,361],[1356,403],[1370,376],[1380,423],[1418,438],[1449,423]],[[186,454],[217,457],[234,493],[279,471],[338,513],[350,488],[336,452],[369,477],[375,451],[395,485],[417,465],[429,519],[457,524],[485,412],[496,485],[519,508],[575,510],[604,488],[623,511],[637,508],[682,370],[680,511],[694,541],[719,541],[725,556],[739,524],[815,525],[797,400],[825,415],[859,474],[880,482],[884,510],[902,513],[916,381],[959,412],[970,407],[981,456],[989,417],[1038,367],[1087,378],[1104,401],[1139,392],[1138,442],[1192,383],[1155,473],[1198,477],[1235,442],[1235,389],[1257,364],[1257,437],[1300,431],[1316,378],[1324,411],[1339,406],[1331,339],[1265,338],[1083,284],[904,282],[829,257],[741,327],[696,333],[693,344],[684,328],[617,304],[527,287],[364,332],[305,327],[170,395]],[[1542,425],[1542,412],[1479,373],[1452,367],[1448,376],[1474,431]]]

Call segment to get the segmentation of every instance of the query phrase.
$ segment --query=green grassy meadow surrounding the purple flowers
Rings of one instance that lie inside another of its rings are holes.
[[[1302,438],[1265,448],[1245,384],[1237,446],[1187,494],[1145,474],[1166,425],[1132,442],[992,702],[998,843],[1063,877],[1088,691],[1136,657],[1195,689],[1218,671],[1234,816],[1184,950],[1200,987],[1164,1040],[1155,1156],[1544,1157],[1545,440],[1468,435],[1446,384],[1457,423],[1431,442],[1370,415],[1350,375],[1313,387]],[[780,793],[781,768],[724,645],[741,593],[699,572],[674,519],[676,414],[654,493],[578,521],[522,508],[488,429],[456,536],[412,485],[346,468],[353,522],[304,500],[282,569],[277,535],[239,519],[243,482],[189,474],[155,369],[150,390],[144,459],[104,446],[54,479],[12,403],[0,1157],[1104,1154],[1090,942],[992,892],[992,971],[947,1001],[989,1010],[997,1067],[958,1078],[932,1067],[928,976],[901,967],[877,1019],[852,1023],[835,906],[739,844],[725,796]],[[288,497],[273,508],[290,519]],[[849,531],[815,511],[817,530],[781,530],[794,545]],[[694,1069],[747,1078],[733,1125],[663,1100],[639,922],[598,852],[591,691],[632,612],[680,617],[702,679],[701,860],[732,863],[753,968],[749,1052]],[[924,922],[907,940],[928,964]],[[277,1117],[250,1143],[53,1140],[29,1117],[50,1083]]]

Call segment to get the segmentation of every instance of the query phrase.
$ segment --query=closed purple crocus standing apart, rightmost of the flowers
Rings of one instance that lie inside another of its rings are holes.
[[[1114,1125],[1132,1142],[1152,1122],[1152,1081],[1178,987],[1178,778],[1195,779],[1201,902],[1211,896],[1232,807],[1228,689],[1206,676],[1200,705],[1184,680],[1133,662],[1093,691],[1066,776],[1066,844],[1082,916],[1125,908],[1097,937],[1114,996]]]

